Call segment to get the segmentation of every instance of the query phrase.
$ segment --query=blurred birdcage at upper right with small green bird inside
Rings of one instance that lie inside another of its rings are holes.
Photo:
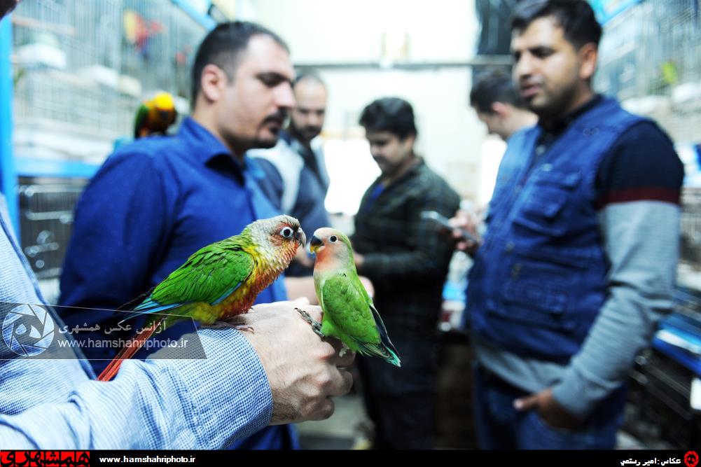
[[[653,117],[677,142],[699,140],[701,18],[699,0],[646,0],[604,26],[600,92]]]

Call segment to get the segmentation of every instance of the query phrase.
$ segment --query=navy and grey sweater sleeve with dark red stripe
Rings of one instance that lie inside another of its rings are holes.
[[[611,269],[606,302],[553,388],[572,414],[585,417],[627,380],[672,309],[682,180],[672,142],[651,122],[629,128],[601,163],[597,208]]]

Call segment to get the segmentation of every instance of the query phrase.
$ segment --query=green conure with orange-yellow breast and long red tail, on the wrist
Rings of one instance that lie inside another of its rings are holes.
[[[160,327],[192,318],[204,325],[246,313],[258,294],[280,276],[304,248],[306,238],[294,217],[281,215],[248,224],[243,232],[195,252],[144,299],[125,320],[147,314],[144,331],[132,338],[97,377],[109,381]]]

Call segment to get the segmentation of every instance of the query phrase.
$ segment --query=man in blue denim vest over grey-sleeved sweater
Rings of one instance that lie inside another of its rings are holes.
[[[683,166],[655,123],[592,90],[586,1],[524,1],[512,33],[538,124],[510,137],[472,245],[479,445],[610,449],[634,358],[672,308]]]

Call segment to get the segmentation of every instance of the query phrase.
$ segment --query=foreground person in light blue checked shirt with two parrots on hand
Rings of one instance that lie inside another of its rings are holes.
[[[16,3],[0,6],[0,18]],[[3,340],[36,344],[31,332],[15,327],[26,316],[7,318],[18,307],[53,322],[47,334],[62,325],[43,305],[0,195]],[[217,449],[266,424],[328,418],[329,396],[351,388],[351,374],[338,367],[353,356],[339,358],[338,343],[320,341],[293,308],[290,302],[256,306],[242,322],[255,333],[198,332],[205,360],[130,360],[109,383],[90,381],[93,370],[78,360],[81,352],[57,344],[76,344],[70,337],[54,337],[42,358],[0,346],[0,449]],[[305,308],[320,319],[319,307]]]

